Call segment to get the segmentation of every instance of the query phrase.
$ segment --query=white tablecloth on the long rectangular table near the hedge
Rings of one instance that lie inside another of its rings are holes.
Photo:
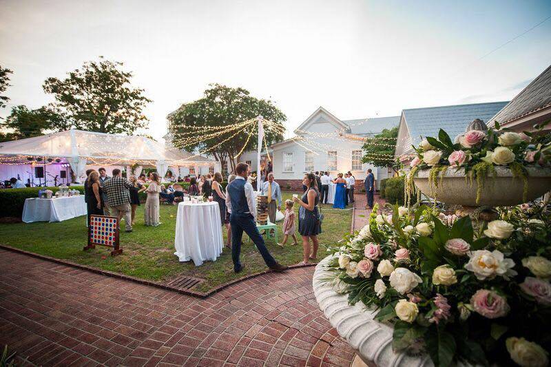
[[[25,200],[23,222],[61,222],[87,214],[84,195]]]

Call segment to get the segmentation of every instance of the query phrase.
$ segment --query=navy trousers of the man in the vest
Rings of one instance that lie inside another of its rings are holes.
[[[256,223],[254,222],[253,216],[251,214],[230,214],[229,224],[231,225],[231,260],[233,260],[233,270],[241,269],[241,240],[243,237],[243,232],[247,233],[254,244],[264,262],[267,266],[274,266],[276,264],[275,259],[270,255],[270,252],[264,244],[264,238],[258,232],[256,228]]]

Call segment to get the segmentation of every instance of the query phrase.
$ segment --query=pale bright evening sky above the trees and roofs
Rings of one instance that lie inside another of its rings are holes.
[[[551,65],[549,17],[549,0],[0,0],[0,116],[50,103],[46,78],[100,55],[152,99],[155,138],[209,83],[274,101],[286,137],[320,106],[348,120],[508,101]]]

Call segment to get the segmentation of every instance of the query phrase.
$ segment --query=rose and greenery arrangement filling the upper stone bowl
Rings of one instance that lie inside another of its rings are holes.
[[[413,177],[419,169],[430,169],[430,184],[437,187],[438,177],[443,178],[449,168],[464,170],[466,176],[477,180],[477,202],[484,188],[484,181],[495,176],[495,167],[508,167],[514,178],[524,182],[524,196],[528,191],[526,167],[549,166],[551,162],[551,134],[543,134],[547,125],[536,125],[536,132],[521,134],[495,127],[487,132],[470,130],[459,136],[453,143],[450,136],[440,129],[438,138],[426,137],[413,147],[417,156],[410,162],[410,172],[406,178],[406,198],[414,192]]]

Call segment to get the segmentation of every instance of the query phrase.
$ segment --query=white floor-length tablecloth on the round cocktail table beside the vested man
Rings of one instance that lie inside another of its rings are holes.
[[[205,260],[216,261],[223,242],[218,202],[178,204],[174,255],[180,262],[194,260],[195,266],[200,266]]]

